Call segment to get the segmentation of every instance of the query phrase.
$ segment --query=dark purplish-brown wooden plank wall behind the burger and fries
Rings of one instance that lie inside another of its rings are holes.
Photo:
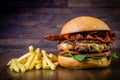
[[[57,54],[57,42],[42,36],[59,34],[68,20],[83,15],[110,26],[117,36],[113,51],[120,53],[120,0],[0,0],[0,73],[8,60],[26,53],[30,45]]]

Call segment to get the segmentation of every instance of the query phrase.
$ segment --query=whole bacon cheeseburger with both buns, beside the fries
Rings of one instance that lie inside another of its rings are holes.
[[[95,17],[73,18],[62,27],[60,34],[47,34],[44,38],[58,41],[58,63],[65,68],[104,68],[112,58],[118,58],[111,52],[115,33]]]

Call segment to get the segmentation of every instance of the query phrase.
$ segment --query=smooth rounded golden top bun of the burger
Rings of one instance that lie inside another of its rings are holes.
[[[73,18],[68,21],[62,28],[60,35],[66,33],[84,32],[84,31],[96,31],[96,30],[110,30],[109,26],[102,20],[90,17],[81,16]]]

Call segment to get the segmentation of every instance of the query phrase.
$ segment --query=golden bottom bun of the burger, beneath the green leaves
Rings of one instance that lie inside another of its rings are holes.
[[[90,69],[90,68],[104,68],[111,63],[111,58],[92,59],[86,58],[84,61],[77,61],[72,57],[58,56],[58,63],[60,66],[71,69]]]

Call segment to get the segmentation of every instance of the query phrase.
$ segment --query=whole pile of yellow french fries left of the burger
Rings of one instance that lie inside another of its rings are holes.
[[[33,46],[29,46],[29,52],[19,58],[13,58],[8,63],[10,71],[26,72],[33,69],[51,69],[56,70],[58,58],[56,55],[47,54],[45,50],[37,48],[34,51]]]

